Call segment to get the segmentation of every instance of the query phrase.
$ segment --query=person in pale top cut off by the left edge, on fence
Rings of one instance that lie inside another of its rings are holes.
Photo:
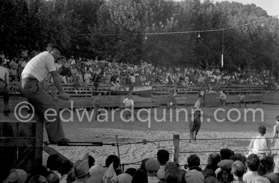
[[[8,108],[9,104],[9,71],[7,68],[3,67],[2,58],[0,58],[0,96],[3,96],[4,100],[4,115],[8,116],[11,111]]]

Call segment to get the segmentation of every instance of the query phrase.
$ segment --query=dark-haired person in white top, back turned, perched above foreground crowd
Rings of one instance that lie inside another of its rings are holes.
[[[271,156],[270,151],[270,139],[266,138],[264,135],[266,133],[266,128],[264,126],[259,127],[259,135],[251,139],[249,145],[249,151],[252,149],[258,150],[260,154],[260,159],[265,158],[266,156]]]

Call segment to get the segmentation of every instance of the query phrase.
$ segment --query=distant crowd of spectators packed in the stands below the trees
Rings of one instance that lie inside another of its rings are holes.
[[[4,60],[3,65],[10,72],[10,81],[19,81],[20,75],[33,57],[40,54],[39,51],[22,51],[19,59],[9,58],[0,52]],[[76,59],[61,57],[57,60],[56,70],[62,83],[75,83],[77,86],[84,83],[111,84],[118,83],[121,87],[129,86],[131,77],[135,77],[137,85],[175,85],[180,87],[200,86],[234,86],[252,85],[268,86],[268,90],[277,91],[279,85],[274,77],[269,76],[269,71],[256,69],[224,69],[217,66],[205,68],[189,65],[179,66],[154,66],[141,61],[140,65],[122,63],[111,55],[103,58],[96,56],[94,59]],[[45,78],[46,82],[53,82],[51,75]]]

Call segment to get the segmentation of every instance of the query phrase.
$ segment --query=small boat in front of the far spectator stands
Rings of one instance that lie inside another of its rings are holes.
[[[129,87],[126,87],[126,91],[121,88],[117,91],[118,95],[127,95],[129,93]],[[152,86],[134,86],[133,95],[138,95],[141,97],[151,97]]]

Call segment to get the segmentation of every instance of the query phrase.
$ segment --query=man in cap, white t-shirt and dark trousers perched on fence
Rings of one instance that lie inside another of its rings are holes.
[[[49,108],[56,111],[56,116],[52,115],[48,116],[48,119],[44,119],[50,143],[69,142],[69,139],[65,138],[59,107],[53,97],[44,90],[44,79],[50,73],[62,99],[68,100],[70,98],[69,94],[64,92],[60,77],[56,72],[55,61],[60,58],[62,52],[62,48],[58,45],[49,44],[47,51],[33,57],[26,64],[19,84],[20,93],[28,99],[28,102],[34,106],[40,115],[44,116]]]

